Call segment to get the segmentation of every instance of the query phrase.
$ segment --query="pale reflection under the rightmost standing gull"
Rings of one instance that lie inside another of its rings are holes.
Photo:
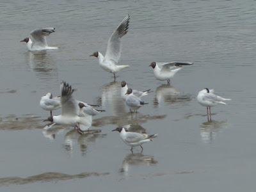
[[[200,135],[204,143],[211,143],[221,129],[228,126],[227,121],[210,121],[200,125]]]

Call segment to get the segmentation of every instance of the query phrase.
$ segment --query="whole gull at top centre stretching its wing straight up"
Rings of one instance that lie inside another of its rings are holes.
[[[127,15],[124,20],[119,24],[116,30],[112,33],[108,40],[108,46],[105,56],[99,51],[93,52],[90,56],[95,56],[99,59],[99,65],[107,72],[114,74],[116,79],[116,73],[120,70],[129,67],[129,65],[117,65],[121,56],[121,38],[128,32],[130,16]]]

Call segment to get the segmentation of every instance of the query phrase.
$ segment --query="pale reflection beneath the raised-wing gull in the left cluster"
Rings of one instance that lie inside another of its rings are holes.
[[[67,134],[65,134],[65,150],[71,154],[74,150],[74,145],[77,143],[82,156],[85,155],[90,143],[95,142],[97,138],[104,138],[104,136],[106,136],[106,134],[102,134],[100,132],[100,129],[92,129],[88,132],[84,132],[83,134],[79,134],[75,130],[68,131]]]

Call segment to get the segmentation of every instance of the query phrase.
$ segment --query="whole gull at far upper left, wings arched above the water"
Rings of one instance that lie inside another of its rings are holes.
[[[46,41],[46,36],[55,32],[55,28],[35,29],[30,32],[31,37],[24,38],[20,42],[26,42],[29,51],[44,51],[58,49],[58,47],[49,47]]]

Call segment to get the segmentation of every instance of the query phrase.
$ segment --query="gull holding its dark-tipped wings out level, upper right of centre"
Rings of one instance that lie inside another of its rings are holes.
[[[193,63],[181,63],[181,62],[152,62],[149,67],[153,68],[154,76],[157,80],[166,81],[170,84],[170,78],[172,78],[182,67],[182,65],[193,65]]]

